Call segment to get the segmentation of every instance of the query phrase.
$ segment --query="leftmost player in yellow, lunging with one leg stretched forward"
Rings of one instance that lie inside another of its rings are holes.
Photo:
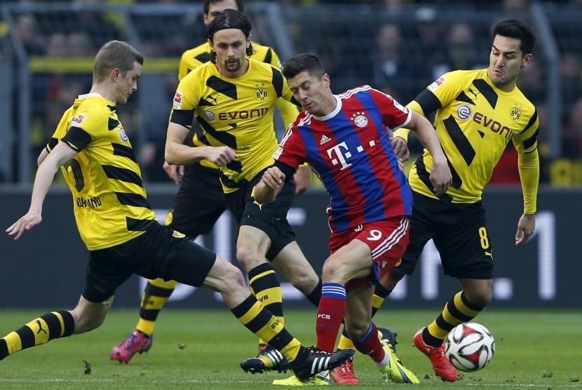
[[[219,292],[234,316],[278,349],[302,379],[346,361],[353,351],[330,354],[303,347],[252,295],[238,268],[156,222],[140,166],[116,113],[116,104],[126,103],[137,90],[143,63],[128,43],[106,43],[95,57],[90,93],[67,109],[39,156],[28,213],[6,232],[18,239],[41,223],[43,201],[60,167],[73,194],[79,234],[89,250],[86,283],[72,311],[52,311],[0,338],[0,360],[51,339],[98,328],[116,288],[138,274]]]

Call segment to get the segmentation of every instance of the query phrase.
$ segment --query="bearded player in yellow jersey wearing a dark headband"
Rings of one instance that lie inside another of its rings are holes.
[[[248,272],[252,291],[283,321],[281,288],[268,260],[316,304],[320,278],[295,242],[287,210],[295,185],[276,203],[259,205],[253,190],[262,172],[273,163],[277,147],[273,110],[283,97],[292,100],[280,69],[248,58],[252,54],[250,20],[227,9],[208,26],[210,62],[196,67],[180,81],[173,99],[165,159],[172,165],[207,160],[220,167],[229,210],[240,222],[236,257]],[[196,118],[211,146],[185,145]],[[251,372],[285,369],[285,360],[267,346],[241,367]]]

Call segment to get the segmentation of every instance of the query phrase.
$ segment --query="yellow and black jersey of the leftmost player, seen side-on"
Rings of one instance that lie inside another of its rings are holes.
[[[115,109],[96,93],[79,96],[46,146],[50,152],[62,140],[79,152],[61,170],[73,194],[79,234],[89,250],[140,236],[156,219]]]

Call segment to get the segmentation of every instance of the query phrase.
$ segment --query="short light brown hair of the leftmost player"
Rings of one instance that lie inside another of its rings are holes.
[[[115,68],[119,68],[121,76],[125,77],[135,67],[135,62],[144,65],[144,56],[133,46],[123,41],[109,41],[95,55],[93,83],[106,79]]]

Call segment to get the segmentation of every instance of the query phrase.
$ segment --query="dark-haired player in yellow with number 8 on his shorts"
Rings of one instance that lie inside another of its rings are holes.
[[[524,200],[515,245],[534,233],[538,115],[515,85],[521,69],[532,62],[534,44],[530,27],[518,20],[503,20],[494,27],[487,69],[444,74],[407,106],[423,115],[436,111],[434,126],[453,182],[445,194],[436,196],[428,181],[430,154],[425,150],[414,163],[409,176],[414,199],[410,245],[401,264],[382,284],[392,290],[404,275],[412,274],[424,245],[433,239],[445,274],[459,281],[461,291],[433,323],[414,335],[413,341],[444,381],[454,382],[457,376],[443,354],[442,340],[454,326],[471,321],[492,300],[493,250],[481,194],[510,141],[519,154]],[[395,132],[400,141],[397,153],[405,149],[407,134],[407,130]]]

